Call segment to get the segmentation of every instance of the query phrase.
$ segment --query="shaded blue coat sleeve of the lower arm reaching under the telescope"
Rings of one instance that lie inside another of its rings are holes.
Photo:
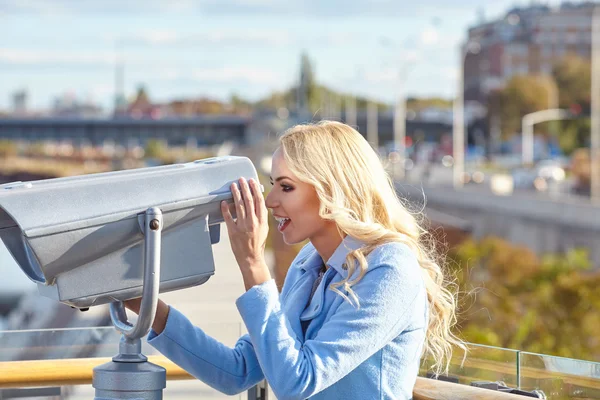
[[[233,348],[228,347],[173,307],[165,330],[160,335],[150,331],[148,343],[194,377],[228,395],[241,393],[264,379],[248,335]]]

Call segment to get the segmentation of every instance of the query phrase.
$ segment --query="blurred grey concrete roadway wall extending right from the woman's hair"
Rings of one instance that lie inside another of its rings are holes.
[[[600,206],[588,199],[553,199],[533,192],[499,196],[477,187],[397,183],[399,194],[426,213],[443,213],[466,222],[475,238],[488,235],[522,244],[538,254],[585,247],[600,265]],[[433,219],[433,217],[432,217]]]

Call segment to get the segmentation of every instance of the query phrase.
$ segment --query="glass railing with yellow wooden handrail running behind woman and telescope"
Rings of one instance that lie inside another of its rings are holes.
[[[216,337],[225,343],[234,343],[241,333],[237,324],[232,324],[230,329],[207,324],[207,329],[208,333],[218,333]],[[0,399],[32,397],[39,392],[37,388],[55,388],[56,391],[57,387],[89,385],[93,368],[109,360],[118,340],[119,335],[112,327],[0,332]],[[486,387],[531,393],[538,390],[549,399],[600,400],[600,363],[475,344],[469,347],[465,362],[461,363],[462,353],[455,352],[449,376],[442,377],[460,384],[424,378],[428,367],[424,360],[414,398],[435,399],[440,398],[440,394],[447,399],[506,398],[490,397],[506,393],[482,389]],[[144,353],[151,362],[167,370],[169,381],[194,379],[149,346]],[[34,388],[35,393],[29,390]],[[196,390],[195,386],[192,390]],[[50,390],[46,396],[54,396],[52,393]],[[249,400],[265,400],[268,393],[266,382],[262,382],[245,396]]]

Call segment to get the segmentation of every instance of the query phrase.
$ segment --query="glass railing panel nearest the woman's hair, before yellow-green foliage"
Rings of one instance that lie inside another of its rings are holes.
[[[509,387],[517,387],[518,351],[500,347],[469,344],[464,359],[464,351],[455,349],[447,377],[450,381],[470,385],[475,381],[504,382]],[[420,376],[427,376],[432,362],[424,360]]]

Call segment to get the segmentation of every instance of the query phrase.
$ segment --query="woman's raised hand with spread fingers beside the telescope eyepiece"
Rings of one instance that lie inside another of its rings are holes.
[[[231,184],[237,218],[234,221],[227,202],[221,202],[221,212],[229,232],[229,241],[240,267],[246,290],[271,279],[265,262],[265,244],[269,233],[267,207],[258,182],[244,178],[240,189]]]

